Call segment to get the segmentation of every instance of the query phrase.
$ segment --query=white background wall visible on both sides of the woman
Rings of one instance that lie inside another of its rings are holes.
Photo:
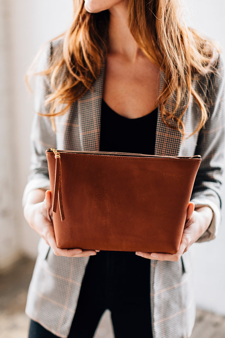
[[[15,156],[17,156],[17,161],[14,162],[17,171],[16,192],[14,192],[17,217],[16,223],[11,222],[14,225],[12,225],[10,234],[14,232],[14,238],[11,238],[10,241],[14,252],[22,249],[27,254],[35,256],[38,236],[24,221],[21,208],[22,193],[29,172],[29,132],[33,112],[32,96],[26,89],[24,74],[38,48],[69,26],[72,17],[72,0],[70,2],[64,0],[1,0],[0,3],[6,3],[6,1],[10,6],[11,54],[9,54],[11,55],[11,65],[8,74],[10,74],[9,80],[13,93],[9,103],[16,124],[14,134],[11,131],[10,135],[16,145]],[[219,40],[225,50],[224,0],[214,0],[213,2],[212,0],[183,0],[183,2],[190,8],[188,20],[191,25],[209,37]],[[187,15],[187,10],[185,13]],[[3,56],[0,55],[0,57]],[[225,208],[223,208],[223,219],[225,220]],[[17,230],[15,230],[15,224]],[[225,315],[223,250],[225,227],[223,224],[224,221],[216,240],[195,244],[193,251],[197,304],[202,308]]]

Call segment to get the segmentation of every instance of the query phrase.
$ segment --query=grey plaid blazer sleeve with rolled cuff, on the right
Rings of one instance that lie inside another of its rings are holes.
[[[208,120],[200,130],[196,154],[202,156],[191,201],[196,207],[208,206],[213,210],[213,219],[205,233],[197,240],[204,242],[216,237],[221,222],[221,185],[224,168],[225,146],[225,76],[224,61],[218,59],[216,69],[207,82],[206,107]],[[202,84],[206,86],[206,83]]]

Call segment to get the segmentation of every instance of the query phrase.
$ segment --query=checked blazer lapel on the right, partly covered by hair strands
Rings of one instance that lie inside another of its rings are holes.
[[[163,88],[165,78],[164,73],[160,73],[160,92]],[[175,99],[170,98],[166,108],[172,111],[175,107]],[[181,113],[181,107],[178,107],[178,115]],[[183,116],[184,118],[184,116]],[[178,156],[182,141],[182,135],[179,131],[169,128],[165,125],[161,118],[160,106],[158,106],[157,127],[156,127],[156,143],[155,155]]]

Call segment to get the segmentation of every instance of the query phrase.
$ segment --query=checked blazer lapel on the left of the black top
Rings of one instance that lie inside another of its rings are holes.
[[[78,121],[82,151],[99,151],[100,126],[105,61],[100,75],[88,90],[78,100]]]

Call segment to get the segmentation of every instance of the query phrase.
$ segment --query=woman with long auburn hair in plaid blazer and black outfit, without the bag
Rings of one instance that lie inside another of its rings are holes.
[[[178,0],[74,0],[74,8],[73,25],[47,45],[37,69],[24,215],[42,239],[26,307],[29,337],[92,337],[106,308],[116,337],[190,337],[187,250],[215,238],[220,223],[221,56],[181,21]],[[59,249],[48,147],[200,154],[178,252]]]

